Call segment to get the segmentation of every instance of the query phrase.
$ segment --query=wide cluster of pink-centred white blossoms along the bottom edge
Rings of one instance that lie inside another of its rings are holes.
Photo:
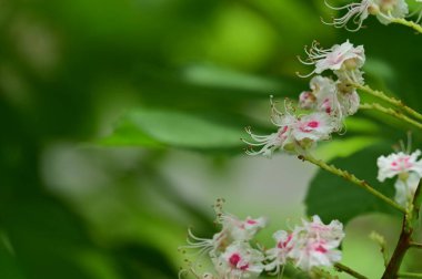
[[[207,255],[214,269],[212,272],[199,272],[198,262],[192,264],[189,270],[198,279],[252,279],[264,271],[280,273],[288,262],[311,271],[314,267],[331,267],[341,260],[338,248],[344,232],[338,220],[324,225],[318,216],[313,216],[312,221],[303,220],[303,226],[297,226],[291,232],[277,231],[277,246],[268,250],[251,245],[255,234],[267,225],[265,218],[248,217],[241,220],[232,215],[219,214],[218,224],[222,227],[221,231],[211,239],[195,237],[189,230],[189,246],[184,248],[200,249],[197,261]]]

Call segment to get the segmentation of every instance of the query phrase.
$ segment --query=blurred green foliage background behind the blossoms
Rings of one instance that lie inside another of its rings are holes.
[[[305,215],[315,169],[248,157],[239,138],[271,132],[270,94],[308,89],[304,45],[364,44],[366,81],[422,110],[422,37],[373,19],[348,33],[321,23],[331,16],[319,0],[0,0],[0,278],[177,278],[187,228],[210,237],[218,197],[269,216],[271,246]],[[390,146],[409,128],[359,113],[315,155]],[[344,262],[378,278],[368,235],[392,248],[399,229],[394,216],[353,219]],[[422,271],[421,257],[405,267]]]

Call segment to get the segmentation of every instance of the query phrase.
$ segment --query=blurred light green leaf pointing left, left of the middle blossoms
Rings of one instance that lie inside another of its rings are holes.
[[[241,146],[241,127],[177,111],[141,108],[128,113],[104,145],[182,148]]]

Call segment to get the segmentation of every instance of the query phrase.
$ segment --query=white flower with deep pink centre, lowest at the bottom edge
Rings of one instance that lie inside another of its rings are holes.
[[[230,245],[212,260],[218,273],[224,279],[258,278],[264,269],[263,255],[247,242]]]

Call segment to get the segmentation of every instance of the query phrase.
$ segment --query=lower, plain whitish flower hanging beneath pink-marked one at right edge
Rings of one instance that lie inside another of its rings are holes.
[[[412,203],[414,193],[418,189],[418,185],[421,177],[415,173],[410,173],[406,179],[398,179],[394,184],[395,196],[394,200],[404,207],[408,207]]]

